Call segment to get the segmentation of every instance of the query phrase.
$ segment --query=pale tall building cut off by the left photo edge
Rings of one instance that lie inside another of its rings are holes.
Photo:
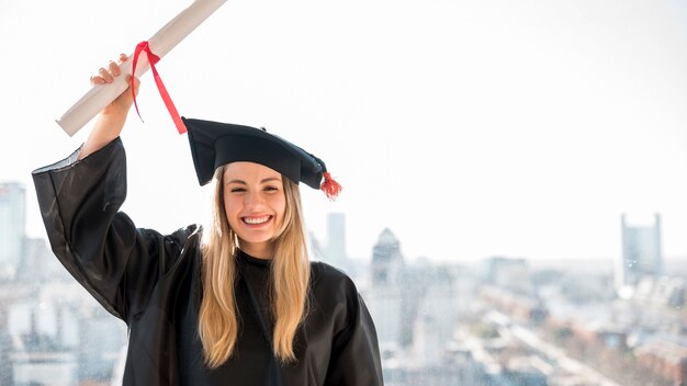
[[[14,275],[22,253],[25,223],[22,184],[0,183],[0,280]]]

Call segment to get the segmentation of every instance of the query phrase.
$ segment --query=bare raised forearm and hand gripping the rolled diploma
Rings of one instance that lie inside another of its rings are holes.
[[[97,75],[91,77],[91,84],[106,84],[112,83],[115,77],[120,77],[120,64],[126,61],[128,58],[125,54],[120,55],[119,61],[110,60],[108,67],[101,67]],[[127,75],[127,81],[131,79],[131,75]],[[134,80],[135,92],[138,93],[138,87],[140,81]],[[117,96],[112,103],[103,109],[95,121],[88,139],[79,151],[78,159],[83,159],[94,151],[98,151],[105,145],[110,144],[114,138],[120,136],[122,127],[126,122],[126,115],[132,106],[134,99],[129,88],[124,90],[120,96]]]

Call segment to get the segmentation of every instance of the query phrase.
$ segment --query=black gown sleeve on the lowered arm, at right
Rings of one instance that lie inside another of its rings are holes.
[[[327,385],[383,385],[374,322],[356,285],[346,279],[346,326],[334,337]]]

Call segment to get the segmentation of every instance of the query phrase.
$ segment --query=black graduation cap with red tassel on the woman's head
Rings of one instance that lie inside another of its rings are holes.
[[[201,185],[226,163],[249,161],[277,170],[293,182],[322,190],[335,200],[341,185],[322,159],[264,128],[181,117],[189,133],[191,155]],[[324,181],[323,181],[324,179]]]

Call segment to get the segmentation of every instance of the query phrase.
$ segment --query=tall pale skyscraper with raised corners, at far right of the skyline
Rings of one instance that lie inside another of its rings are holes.
[[[616,290],[633,287],[640,277],[663,274],[661,253],[661,216],[654,215],[651,225],[629,225],[620,217],[622,257],[616,265]]]

